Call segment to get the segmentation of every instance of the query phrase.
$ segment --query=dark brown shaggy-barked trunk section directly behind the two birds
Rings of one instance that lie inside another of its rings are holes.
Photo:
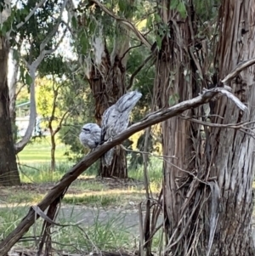
[[[95,100],[95,119],[101,124],[104,111],[116,103],[125,94],[126,68],[122,65],[121,56],[116,55],[111,64],[111,57],[104,45],[105,55],[102,57],[100,67],[92,65],[89,76],[90,88]],[[115,153],[111,166],[105,167],[100,161],[99,174],[102,177],[127,178],[126,152],[120,146],[115,147]]]

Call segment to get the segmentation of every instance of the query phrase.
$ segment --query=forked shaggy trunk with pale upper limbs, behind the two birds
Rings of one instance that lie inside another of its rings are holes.
[[[129,0],[133,6],[133,0]],[[128,20],[127,14],[127,20]],[[104,35],[94,40],[95,60],[90,63],[88,82],[95,100],[95,119],[101,124],[104,111],[126,93],[127,49],[129,48],[129,30],[116,22],[114,48],[110,54]],[[126,151],[116,146],[110,167],[104,167],[100,162],[99,174],[102,177],[127,178]]]

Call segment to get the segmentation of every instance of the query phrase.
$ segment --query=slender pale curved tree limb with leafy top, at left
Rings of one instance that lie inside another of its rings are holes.
[[[35,14],[26,22],[26,26],[23,26],[23,29],[20,28],[19,30],[19,35],[23,39],[21,41],[22,44],[20,45],[20,49],[24,49],[26,53],[20,54],[20,57],[27,69],[26,71],[24,66],[21,66],[23,68],[20,69],[20,74],[21,77],[26,78],[26,82],[29,84],[30,119],[26,134],[15,144],[17,153],[22,151],[31,139],[31,134],[37,118],[35,99],[36,71],[45,56],[53,54],[65,36],[65,31],[62,31],[60,38],[55,38],[55,35],[59,35],[59,25],[62,22],[62,14],[65,10],[66,2],[67,0],[65,0],[64,3],[62,3],[62,1],[55,3],[47,1],[43,8],[37,8]],[[36,5],[35,3],[36,1],[34,0],[28,1],[26,9],[33,9]],[[59,13],[57,19],[54,18],[54,14],[56,13]]]

